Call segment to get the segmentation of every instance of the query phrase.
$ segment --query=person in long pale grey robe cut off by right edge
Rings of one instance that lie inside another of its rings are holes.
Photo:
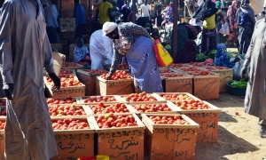
[[[249,66],[249,79],[246,86],[245,112],[259,118],[259,136],[266,138],[266,37],[265,20],[259,20],[254,26],[254,34],[246,52],[246,60],[241,76],[246,78]]]

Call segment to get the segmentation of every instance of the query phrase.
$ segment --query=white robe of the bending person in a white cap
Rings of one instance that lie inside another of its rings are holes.
[[[97,30],[90,36],[91,69],[106,69],[113,59],[113,40],[103,36],[103,30]]]

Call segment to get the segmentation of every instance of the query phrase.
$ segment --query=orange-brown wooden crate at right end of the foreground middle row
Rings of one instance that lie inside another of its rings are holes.
[[[180,113],[190,117],[197,124],[200,124],[197,141],[216,142],[218,136],[218,121],[221,108],[204,101],[210,109],[181,110]]]

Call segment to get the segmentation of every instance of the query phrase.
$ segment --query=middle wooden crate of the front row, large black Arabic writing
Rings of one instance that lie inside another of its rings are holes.
[[[113,160],[144,159],[145,125],[135,114],[115,115],[133,115],[138,126],[100,129],[95,120],[97,116],[91,116],[97,131],[97,154]]]

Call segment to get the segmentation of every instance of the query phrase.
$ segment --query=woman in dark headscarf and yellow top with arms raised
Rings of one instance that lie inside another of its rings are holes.
[[[204,54],[216,49],[216,22],[218,23],[221,20],[223,20],[223,23],[225,22],[223,13],[214,6],[211,0],[207,0],[205,2],[205,9],[197,16],[198,20],[204,20],[201,39],[201,53]],[[219,20],[215,20],[216,15],[220,17]]]

